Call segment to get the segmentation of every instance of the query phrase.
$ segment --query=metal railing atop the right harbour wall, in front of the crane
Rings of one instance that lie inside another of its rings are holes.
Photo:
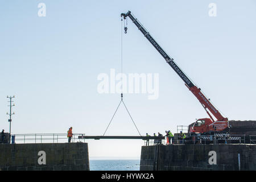
[[[187,136],[185,139],[176,138],[172,144],[229,144],[229,143],[251,143],[256,144],[256,135],[250,135],[250,142],[246,141],[246,135],[200,135],[200,136]],[[144,145],[167,145],[167,138],[164,140],[144,140]]]

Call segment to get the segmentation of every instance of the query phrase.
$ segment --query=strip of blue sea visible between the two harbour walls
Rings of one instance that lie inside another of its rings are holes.
[[[90,160],[90,171],[139,171],[140,160]]]

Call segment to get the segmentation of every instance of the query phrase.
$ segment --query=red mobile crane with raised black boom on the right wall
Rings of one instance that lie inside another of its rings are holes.
[[[163,56],[166,62],[171,66],[172,69],[179,75],[179,77],[185,82],[185,86],[196,96],[199,100],[200,104],[204,107],[205,111],[209,115],[210,118],[202,118],[197,119],[195,123],[189,125],[188,132],[191,134],[200,133],[200,134],[212,134],[214,132],[222,133],[228,129],[229,123],[228,118],[225,118],[221,115],[221,113],[210,103],[210,100],[207,99],[204,94],[201,92],[200,88],[197,88],[193,84],[191,80],[189,80],[188,76],[177,66],[174,59],[172,59],[163,49],[159,46],[159,44],[155,41],[154,38],[149,34],[149,32],[142,26],[142,24],[134,18],[131,14],[131,11],[128,13],[122,13],[121,16],[123,19],[129,17],[133,23],[138,27],[138,29],[142,32],[142,34],[146,37],[146,39],[155,47],[155,49]],[[127,27],[125,27],[125,33],[127,31]],[[213,119],[212,115],[216,118],[216,121]]]

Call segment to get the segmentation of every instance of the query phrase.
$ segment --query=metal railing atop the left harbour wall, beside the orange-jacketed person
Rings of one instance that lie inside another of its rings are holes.
[[[85,134],[73,134],[71,142],[85,142],[79,138]],[[11,143],[67,143],[67,134],[14,134]]]

